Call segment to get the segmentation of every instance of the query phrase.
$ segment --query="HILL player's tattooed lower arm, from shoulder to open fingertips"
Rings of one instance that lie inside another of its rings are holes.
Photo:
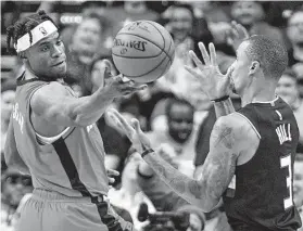
[[[154,172],[180,197],[204,211],[217,205],[235,175],[237,164],[248,162],[260,142],[251,125],[237,113],[218,118],[211,134],[210,153],[202,166],[202,174],[194,180],[182,175],[151,149],[151,142],[140,129],[138,119],[132,119],[130,124],[117,111],[112,111],[111,117],[123,128]]]

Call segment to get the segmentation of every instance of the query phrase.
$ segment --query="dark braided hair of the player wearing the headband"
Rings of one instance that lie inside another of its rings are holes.
[[[51,21],[53,23],[52,18],[47,15],[43,10],[40,10],[35,14],[18,20],[13,26],[9,26],[7,29],[8,52],[13,52],[14,49],[11,47],[11,44],[16,44],[17,39],[20,39],[27,33],[29,35],[29,41],[31,43],[33,35],[30,30],[45,21]]]

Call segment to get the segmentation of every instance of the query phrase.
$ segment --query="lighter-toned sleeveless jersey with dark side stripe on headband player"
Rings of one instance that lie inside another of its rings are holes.
[[[30,121],[29,101],[34,92],[46,85],[48,82],[37,79],[18,79],[13,110],[17,151],[29,168],[34,187],[67,196],[106,195],[105,154],[96,125],[70,127],[53,143],[39,142]]]

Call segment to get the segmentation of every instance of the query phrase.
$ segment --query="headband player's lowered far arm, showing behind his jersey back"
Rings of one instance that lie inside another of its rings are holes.
[[[27,165],[21,158],[16,147],[12,116],[10,119],[7,133],[7,141],[4,145],[4,159],[10,168],[15,168],[24,175],[30,175]]]

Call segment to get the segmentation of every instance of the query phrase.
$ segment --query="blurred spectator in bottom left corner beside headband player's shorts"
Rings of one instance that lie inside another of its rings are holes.
[[[33,192],[31,178],[8,168],[1,177],[1,230],[14,227],[16,208],[27,193]]]

